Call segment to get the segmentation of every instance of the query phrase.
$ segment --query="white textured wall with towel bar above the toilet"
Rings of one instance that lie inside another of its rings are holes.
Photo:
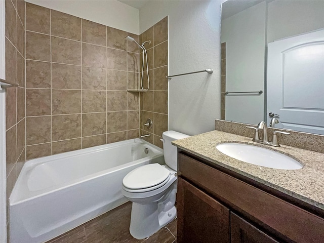
[[[169,75],[213,68],[169,81],[169,130],[195,135],[220,118],[220,7],[224,1],[152,1],[140,10],[140,32],[169,15]]]

